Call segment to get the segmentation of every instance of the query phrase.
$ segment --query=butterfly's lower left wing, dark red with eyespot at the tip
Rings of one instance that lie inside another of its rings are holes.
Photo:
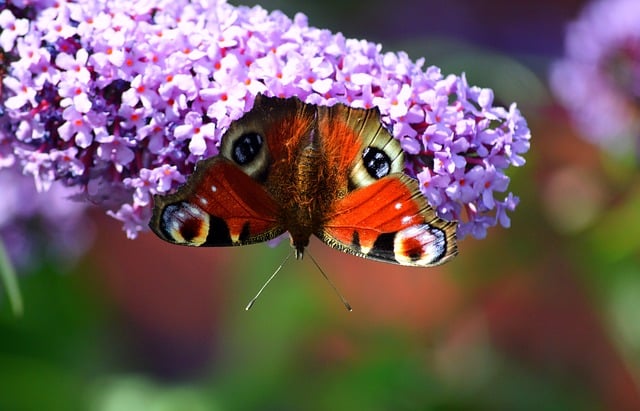
[[[154,202],[150,226],[174,244],[244,245],[284,232],[273,198],[223,157],[201,161],[187,184]]]

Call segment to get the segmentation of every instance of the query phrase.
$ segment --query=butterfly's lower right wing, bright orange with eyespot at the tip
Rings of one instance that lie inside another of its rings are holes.
[[[435,215],[415,180],[393,174],[340,200],[318,236],[360,257],[427,267],[456,254],[455,226]]]

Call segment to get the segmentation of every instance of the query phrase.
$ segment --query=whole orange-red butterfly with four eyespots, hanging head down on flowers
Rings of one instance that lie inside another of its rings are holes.
[[[457,254],[456,223],[439,218],[403,170],[377,108],[258,95],[218,155],[173,194],[154,196],[149,225],[179,245],[238,246],[288,232],[298,259],[315,235],[372,260],[442,264]]]

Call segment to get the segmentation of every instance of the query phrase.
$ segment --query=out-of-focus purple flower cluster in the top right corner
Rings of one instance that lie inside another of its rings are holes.
[[[640,2],[589,3],[568,26],[565,49],[550,81],[581,134],[614,152],[640,145]]]

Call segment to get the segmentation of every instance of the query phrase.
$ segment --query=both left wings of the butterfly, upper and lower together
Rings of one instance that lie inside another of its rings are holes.
[[[290,180],[314,116],[298,99],[257,96],[222,137],[220,154],[199,161],[175,193],[154,196],[151,229],[187,246],[253,244],[287,231],[282,197],[290,195],[280,181]]]

